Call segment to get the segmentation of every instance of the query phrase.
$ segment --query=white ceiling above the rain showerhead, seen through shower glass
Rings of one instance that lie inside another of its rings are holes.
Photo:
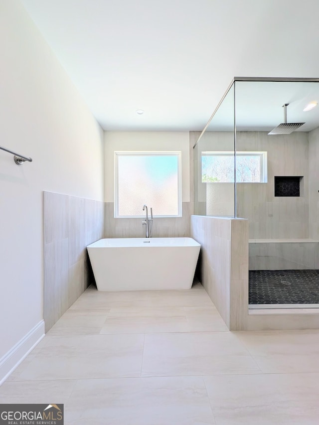
[[[295,81],[236,81],[219,106],[208,126],[208,131],[269,132],[285,122],[305,123],[297,131],[309,132],[319,127],[319,106],[304,112],[310,102],[319,103],[318,82]],[[234,117],[234,103],[236,117]]]

